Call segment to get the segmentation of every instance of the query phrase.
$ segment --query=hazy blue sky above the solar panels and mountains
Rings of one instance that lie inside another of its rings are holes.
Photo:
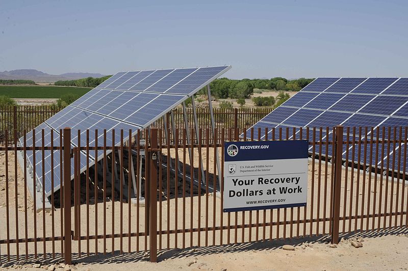
[[[0,71],[224,64],[230,78],[408,76],[408,1],[0,0]]]

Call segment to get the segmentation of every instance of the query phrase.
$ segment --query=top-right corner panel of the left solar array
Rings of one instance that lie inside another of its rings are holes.
[[[213,78],[218,77],[218,75],[227,68],[228,67],[199,68],[182,80],[182,82],[166,91],[166,93],[190,95],[193,91],[208,84]]]

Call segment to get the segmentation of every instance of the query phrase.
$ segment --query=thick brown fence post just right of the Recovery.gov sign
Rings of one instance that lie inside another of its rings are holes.
[[[328,139],[326,139],[328,140]],[[335,178],[333,185],[333,223],[331,224],[331,243],[339,243],[339,224],[340,224],[340,191],[341,191],[341,173],[343,160],[343,126],[336,126],[335,145]]]

